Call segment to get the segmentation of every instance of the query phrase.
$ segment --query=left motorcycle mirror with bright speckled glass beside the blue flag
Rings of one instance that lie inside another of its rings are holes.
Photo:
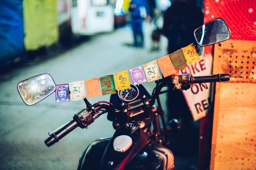
[[[27,105],[34,105],[56,90],[52,76],[40,74],[18,83],[18,92]]]

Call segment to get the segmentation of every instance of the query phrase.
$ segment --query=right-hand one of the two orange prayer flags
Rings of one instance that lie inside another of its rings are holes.
[[[164,77],[170,76],[176,72],[169,55],[157,59],[157,62]]]

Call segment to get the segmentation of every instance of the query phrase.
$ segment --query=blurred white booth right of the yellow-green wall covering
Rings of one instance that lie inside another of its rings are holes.
[[[114,4],[111,0],[73,0],[72,32],[93,35],[114,30]]]

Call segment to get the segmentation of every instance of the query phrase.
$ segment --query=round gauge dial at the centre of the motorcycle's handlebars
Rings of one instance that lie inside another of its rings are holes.
[[[139,96],[139,89],[131,84],[130,89],[125,89],[125,90],[119,90],[118,91],[118,97],[126,102],[130,102],[132,100],[135,100]]]

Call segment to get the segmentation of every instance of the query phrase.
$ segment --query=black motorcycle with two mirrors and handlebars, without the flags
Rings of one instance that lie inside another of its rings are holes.
[[[197,28],[194,35],[199,46],[208,46],[229,39],[230,32],[225,21],[217,18]],[[111,94],[109,102],[99,101],[92,105],[84,98],[86,108],[74,114],[70,122],[50,131],[46,146],[59,142],[76,127],[88,128],[99,116],[108,113],[107,118],[116,130],[114,135],[93,141],[82,153],[78,170],[172,170],[175,163],[168,149],[168,131],[178,126],[175,121],[166,126],[159,95],[168,92],[162,91],[163,87],[175,89],[177,84],[173,81],[177,79],[179,89],[187,90],[194,83],[229,81],[229,74],[177,74],[155,81],[151,95],[143,85],[131,84],[130,89]],[[40,102],[55,90],[56,84],[50,74],[40,74],[18,83],[18,92],[27,105]]]

